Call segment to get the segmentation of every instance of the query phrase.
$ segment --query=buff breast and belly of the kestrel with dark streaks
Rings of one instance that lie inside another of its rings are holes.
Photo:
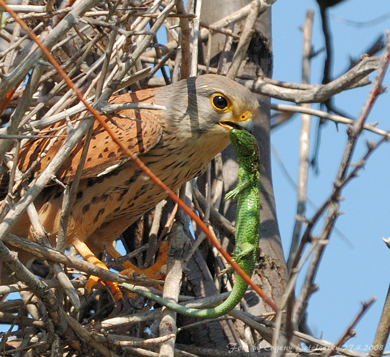
[[[170,147],[162,140],[140,159],[166,185],[177,190],[199,175],[205,165],[227,146],[228,136],[222,130],[219,137],[214,133],[210,137],[203,135],[201,139],[191,140],[195,145],[188,142],[177,145],[176,141],[176,145]],[[167,196],[132,161],[105,176],[84,180],[79,192],[83,195],[72,212],[73,222],[70,222],[68,234],[72,236],[75,232],[88,237],[86,243],[93,251],[101,250]]]

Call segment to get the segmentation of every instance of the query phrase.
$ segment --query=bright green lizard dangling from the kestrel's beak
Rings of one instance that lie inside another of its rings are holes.
[[[237,198],[236,247],[233,257],[250,276],[255,269],[260,239],[259,150],[255,137],[245,130],[232,129],[229,132],[229,137],[240,164],[237,187],[225,196],[225,199]],[[231,311],[240,302],[247,287],[247,283],[240,275],[237,275],[232,292],[217,307],[190,309],[153,293],[137,289],[133,285],[127,283],[121,285],[131,292],[156,301],[181,315],[198,318],[219,317]]]

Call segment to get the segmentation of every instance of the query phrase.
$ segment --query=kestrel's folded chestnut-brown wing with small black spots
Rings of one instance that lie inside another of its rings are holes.
[[[134,99],[137,98],[134,98],[131,94],[123,94],[113,97],[110,103],[129,103]],[[144,103],[146,103],[146,100]],[[131,149],[134,155],[145,154],[159,141],[162,135],[162,127],[153,112],[127,109],[118,112],[118,115],[120,116],[117,117],[113,114],[111,116],[112,121],[109,119],[106,119],[106,121],[117,137]],[[60,127],[63,124],[64,122],[56,123],[56,126]],[[46,155],[41,158],[40,163],[34,168],[34,175],[37,175],[53,159],[66,137],[56,138],[52,146],[50,146],[51,140],[53,139],[37,139],[21,149],[19,168],[22,172],[25,172],[47,149]],[[66,158],[57,172],[58,179],[65,181],[73,179],[81,158],[83,144],[84,140],[78,143],[70,156]],[[81,178],[85,179],[107,173],[128,160],[127,154],[113,142],[105,129],[96,121]]]

